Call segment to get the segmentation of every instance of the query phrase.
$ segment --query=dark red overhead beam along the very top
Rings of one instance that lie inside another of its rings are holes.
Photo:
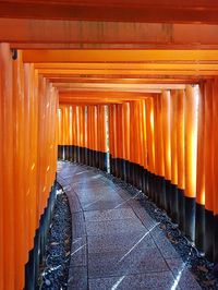
[[[1,1],[1,17],[218,23],[216,1]]]

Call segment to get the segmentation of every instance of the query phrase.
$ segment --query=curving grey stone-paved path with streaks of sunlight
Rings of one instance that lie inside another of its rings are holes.
[[[69,289],[201,289],[158,223],[92,168],[59,162],[72,210]]]

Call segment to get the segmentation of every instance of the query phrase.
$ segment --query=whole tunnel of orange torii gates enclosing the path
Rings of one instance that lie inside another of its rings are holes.
[[[218,3],[78,2],[0,2],[0,289],[37,276],[58,158],[135,185],[218,262]]]

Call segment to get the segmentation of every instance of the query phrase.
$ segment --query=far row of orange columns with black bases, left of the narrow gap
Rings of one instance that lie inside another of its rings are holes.
[[[59,106],[60,159],[107,171],[106,106]]]

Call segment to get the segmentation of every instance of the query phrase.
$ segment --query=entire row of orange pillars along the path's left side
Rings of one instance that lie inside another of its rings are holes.
[[[34,245],[56,180],[58,94],[21,51],[12,60],[8,44],[0,64],[0,288],[23,289],[25,264],[33,288],[28,265],[39,258]]]

